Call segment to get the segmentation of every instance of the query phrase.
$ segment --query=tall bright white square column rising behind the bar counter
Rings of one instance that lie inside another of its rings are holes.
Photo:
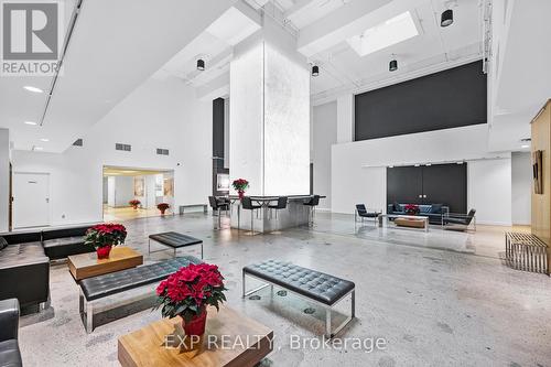
[[[231,180],[250,195],[307,194],[310,72],[296,40],[269,18],[230,64]]]

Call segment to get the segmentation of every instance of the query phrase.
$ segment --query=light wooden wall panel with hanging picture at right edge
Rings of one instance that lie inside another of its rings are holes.
[[[543,193],[536,194],[532,184],[532,234],[551,247],[551,100],[532,120],[532,156],[533,152],[543,151],[542,177]],[[533,164],[533,162],[532,162]],[[551,260],[548,250],[548,260]]]

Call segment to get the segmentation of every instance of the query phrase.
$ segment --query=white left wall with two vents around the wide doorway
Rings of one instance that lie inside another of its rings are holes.
[[[212,102],[179,79],[150,78],[62,154],[13,152],[14,171],[51,173],[53,225],[101,220],[102,166],[174,170],[175,203],[206,203],[212,190]],[[132,145],[131,152],[115,143]],[[166,148],[170,155],[158,155]]]

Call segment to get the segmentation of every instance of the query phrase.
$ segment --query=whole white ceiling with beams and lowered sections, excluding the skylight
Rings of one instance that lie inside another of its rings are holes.
[[[15,149],[42,145],[44,151],[65,150],[151,75],[182,78],[196,88],[199,97],[227,93],[233,46],[260,28],[262,12],[295,35],[298,51],[320,66],[320,76],[312,78],[314,104],[482,57],[483,0],[165,1],[163,7],[151,7],[136,0],[84,0],[64,74],[43,127],[23,122],[40,118],[45,95],[22,87],[33,85],[46,90],[50,78],[0,78],[0,127],[10,129]],[[538,37],[526,42],[530,39],[527,35],[541,34],[547,30],[543,25],[549,28],[544,14],[550,11],[541,9],[550,2],[533,1],[538,4],[522,4],[530,11],[522,11],[519,1],[515,2],[519,14],[511,21],[509,33],[514,36],[507,52],[501,50],[507,62],[501,61],[496,89],[494,137],[526,133],[527,127],[520,128],[516,121],[533,114],[545,94],[550,95],[550,84],[544,82],[545,77],[549,80],[549,43],[538,43]],[[440,14],[447,8],[454,11],[454,23],[441,28]],[[352,36],[406,11],[411,13],[419,35],[366,56],[359,56],[348,44]],[[542,19],[530,22],[537,18]],[[530,61],[534,48],[541,48],[542,55]],[[196,71],[198,57],[206,61],[205,72]],[[392,58],[398,60],[397,72],[388,69]],[[536,86],[530,84],[533,78],[529,76],[534,73],[528,73],[527,63],[542,73]],[[42,142],[41,138],[50,141]]]

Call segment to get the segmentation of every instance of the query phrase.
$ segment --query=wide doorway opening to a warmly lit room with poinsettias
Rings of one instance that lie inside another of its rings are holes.
[[[161,203],[174,213],[173,170],[104,166],[101,185],[105,222],[160,216]]]

